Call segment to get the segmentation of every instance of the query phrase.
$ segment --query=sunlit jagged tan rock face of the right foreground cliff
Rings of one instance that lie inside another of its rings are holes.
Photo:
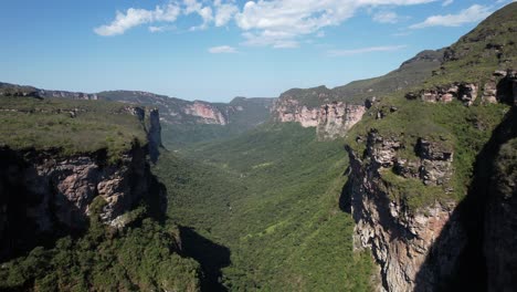
[[[401,136],[383,137],[371,131],[366,143],[362,157],[347,147],[355,246],[372,250],[382,279],[378,290],[413,291],[418,282],[419,291],[436,291],[451,274],[466,240],[453,216],[455,205],[435,201],[410,210],[383,174],[393,171],[400,179],[419,179],[426,185],[446,184],[452,176],[453,152],[439,142],[420,138],[418,158],[408,160],[399,154],[407,147]]]

